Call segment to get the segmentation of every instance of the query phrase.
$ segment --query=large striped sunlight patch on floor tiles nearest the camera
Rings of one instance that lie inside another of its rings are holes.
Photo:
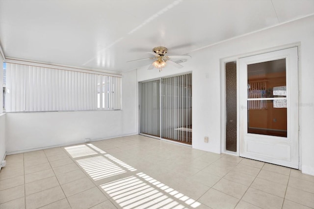
[[[122,208],[184,209],[197,208],[201,205],[144,173],[136,175],[102,184],[101,188]]]

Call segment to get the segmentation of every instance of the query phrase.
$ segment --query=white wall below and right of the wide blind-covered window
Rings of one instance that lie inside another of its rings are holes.
[[[128,79],[122,78],[122,110],[6,113],[6,151],[13,154],[83,143],[85,138],[136,134],[136,72],[125,75]]]

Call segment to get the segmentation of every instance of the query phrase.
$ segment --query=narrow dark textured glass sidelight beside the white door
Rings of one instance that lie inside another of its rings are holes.
[[[226,150],[236,152],[236,62],[226,63]]]

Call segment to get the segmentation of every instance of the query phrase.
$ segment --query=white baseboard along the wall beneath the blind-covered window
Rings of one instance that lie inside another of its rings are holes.
[[[125,137],[125,136],[131,136],[131,135],[137,135],[138,133],[128,133],[128,134],[123,134],[123,135],[116,135],[116,136],[110,136],[110,137],[105,137],[105,138],[97,138],[97,139],[91,139],[90,142],[93,141],[101,141],[101,140],[106,140],[106,139],[113,139],[113,138],[119,138],[119,137]],[[46,146],[46,147],[36,147],[33,149],[26,149],[26,150],[17,150],[17,151],[8,151],[6,152],[6,155],[14,155],[14,154],[20,154],[20,153],[27,153],[27,152],[33,152],[33,151],[38,151],[38,150],[45,150],[45,149],[51,149],[51,148],[56,148],[56,147],[64,147],[64,146],[69,146],[69,145],[75,145],[75,144],[84,144],[86,142],[80,140],[80,141],[73,141],[69,143],[64,143],[64,144],[56,144],[52,146]]]

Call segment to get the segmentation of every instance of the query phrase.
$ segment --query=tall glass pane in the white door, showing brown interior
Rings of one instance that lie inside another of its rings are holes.
[[[286,59],[250,64],[247,70],[248,133],[287,137]]]

